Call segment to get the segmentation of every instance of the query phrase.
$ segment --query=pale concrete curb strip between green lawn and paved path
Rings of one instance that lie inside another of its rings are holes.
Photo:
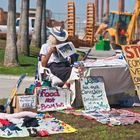
[[[4,74],[0,74],[0,79],[15,79],[15,80],[18,80],[19,79],[19,76],[15,76],[15,75],[4,75]],[[34,77],[31,77],[31,76],[27,76],[25,77],[24,81],[34,81],[35,78]]]

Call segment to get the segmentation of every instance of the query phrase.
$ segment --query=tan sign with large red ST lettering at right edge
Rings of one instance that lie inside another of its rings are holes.
[[[125,45],[122,50],[140,99],[140,45]]]

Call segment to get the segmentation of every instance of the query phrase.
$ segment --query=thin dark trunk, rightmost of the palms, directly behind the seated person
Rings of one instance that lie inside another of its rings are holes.
[[[43,0],[41,44],[44,44],[45,42],[46,42],[46,0]]]

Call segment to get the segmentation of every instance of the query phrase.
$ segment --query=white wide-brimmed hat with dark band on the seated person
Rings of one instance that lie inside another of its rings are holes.
[[[61,26],[56,26],[49,29],[49,32],[58,40],[65,41],[68,38],[68,32]]]

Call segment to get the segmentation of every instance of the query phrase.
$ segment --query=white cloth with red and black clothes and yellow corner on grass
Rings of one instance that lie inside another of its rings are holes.
[[[75,131],[76,129],[50,114],[29,111],[15,114],[0,113],[0,137],[48,136]]]

